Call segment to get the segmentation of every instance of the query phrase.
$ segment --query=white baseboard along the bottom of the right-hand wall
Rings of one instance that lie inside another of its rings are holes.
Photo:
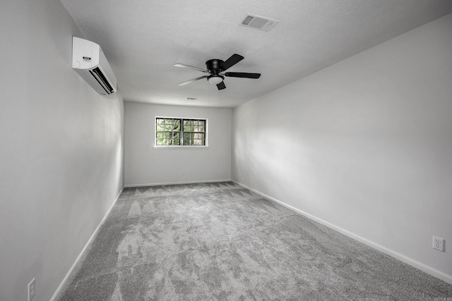
[[[316,221],[318,223],[321,223],[324,226],[327,226],[328,228],[333,229],[334,231],[338,231],[339,233],[342,233],[343,235],[352,238],[354,240],[357,240],[359,242],[364,243],[364,245],[368,245],[371,248],[374,248],[375,250],[379,250],[380,252],[383,252],[385,254],[388,254],[389,256],[400,260],[400,262],[405,262],[405,264],[408,264],[410,266],[415,267],[416,269],[420,269],[421,271],[424,271],[427,274],[430,274],[436,278],[441,279],[442,281],[446,281],[449,284],[452,284],[452,276],[448,275],[442,271],[438,271],[437,269],[432,268],[431,266],[427,266],[427,264],[422,264],[422,262],[417,262],[415,259],[411,259],[410,257],[405,256],[404,254],[400,254],[396,251],[393,251],[391,249],[388,249],[387,247],[383,247],[382,245],[379,245],[376,242],[373,242],[371,240],[368,240],[367,238],[363,238],[359,235],[356,235],[355,233],[352,233],[350,231],[347,231],[343,228],[340,228],[338,226],[335,226],[333,223],[329,223],[328,221],[324,221],[323,219],[319,219],[318,217],[309,214],[305,211],[302,211],[300,209],[297,209],[295,207],[290,206],[289,204],[285,204],[285,202],[281,202],[278,199],[275,199],[273,197],[270,197],[268,195],[263,194],[262,192],[259,192],[258,190],[255,190],[253,188],[249,188],[246,185],[243,185],[242,183],[237,182],[236,180],[232,180],[232,182],[248,189],[251,190],[252,192],[255,192],[258,195],[261,195],[263,197],[265,197],[266,199],[270,199],[271,201],[278,203],[284,207],[286,207],[287,209],[290,209],[292,211],[295,211],[297,214],[302,214],[302,216],[306,216],[308,219],[312,219],[313,221]]]

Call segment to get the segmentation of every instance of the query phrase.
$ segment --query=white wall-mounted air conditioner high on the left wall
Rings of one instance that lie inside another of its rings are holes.
[[[72,37],[72,68],[102,95],[116,92],[116,76],[99,44]]]

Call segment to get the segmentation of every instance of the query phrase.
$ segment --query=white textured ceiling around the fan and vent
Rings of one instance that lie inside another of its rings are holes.
[[[85,39],[100,44],[125,101],[233,107],[403,32],[452,13],[451,0],[61,0]],[[246,13],[280,20],[269,32],[239,26]],[[227,89],[174,63],[244,60]],[[187,100],[196,97],[197,100]]]

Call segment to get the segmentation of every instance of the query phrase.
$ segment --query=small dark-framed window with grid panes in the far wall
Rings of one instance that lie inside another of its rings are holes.
[[[206,146],[207,119],[155,118],[155,146]]]

